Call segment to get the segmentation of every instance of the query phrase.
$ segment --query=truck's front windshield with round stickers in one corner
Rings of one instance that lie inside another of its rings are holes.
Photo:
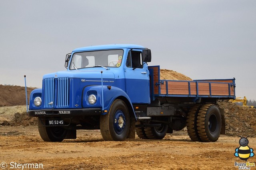
[[[95,66],[120,67],[123,53],[122,49],[74,53],[70,63],[70,70]]]

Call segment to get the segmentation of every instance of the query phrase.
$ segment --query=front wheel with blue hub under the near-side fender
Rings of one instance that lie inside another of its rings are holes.
[[[130,115],[124,101],[114,100],[109,113],[100,115],[100,132],[104,140],[124,141],[130,128]]]

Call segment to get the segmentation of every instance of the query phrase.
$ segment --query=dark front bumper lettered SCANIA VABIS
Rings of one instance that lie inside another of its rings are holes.
[[[102,109],[42,109],[28,111],[28,117],[77,117],[77,116],[97,116],[102,114]]]

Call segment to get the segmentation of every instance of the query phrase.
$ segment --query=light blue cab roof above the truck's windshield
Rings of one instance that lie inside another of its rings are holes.
[[[136,44],[108,44],[108,45],[94,45],[88,47],[76,48],[73,51],[89,51],[98,49],[122,49],[122,48],[145,48]]]

